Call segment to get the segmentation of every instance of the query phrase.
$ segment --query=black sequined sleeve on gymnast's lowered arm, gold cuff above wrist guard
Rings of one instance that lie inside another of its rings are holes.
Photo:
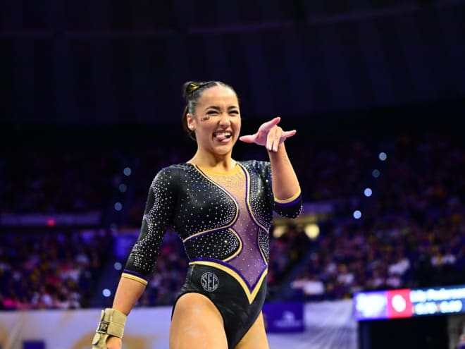
[[[163,235],[173,224],[178,188],[178,169],[167,167],[155,176],[149,188],[140,234],[126,262],[123,277],[147,284]]]

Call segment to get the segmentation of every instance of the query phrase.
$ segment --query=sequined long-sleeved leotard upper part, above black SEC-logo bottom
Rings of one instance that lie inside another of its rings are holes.
[[[252,302],[267,272],[273,211],[290,218],[302,211],[300,192],[277,200],[271,180],[268,161],[240,161],[229,173],[187,163],[161,169],[151,183],[140,235],[123,277],[147,283],[163,235],[171,227],[182,239],[190,264],[222,269]]]

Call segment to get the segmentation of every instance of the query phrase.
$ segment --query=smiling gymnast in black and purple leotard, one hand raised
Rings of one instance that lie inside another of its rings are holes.
[[[170,348],[268,348],[261,309],[272,214],[294,218],[302,211],[284,145],[296,131],[284,131],[273,118],[240,137],[237,94],[223,82],[186,82],[183,94],[182,124],[197,152],[161,169],[151,183],[140,236],[92,348],[121,348],[125,319],[144,292],[168,226],[189,257],[173,306]],[[236,161],[237,140],[266,147],[269,161]]]

